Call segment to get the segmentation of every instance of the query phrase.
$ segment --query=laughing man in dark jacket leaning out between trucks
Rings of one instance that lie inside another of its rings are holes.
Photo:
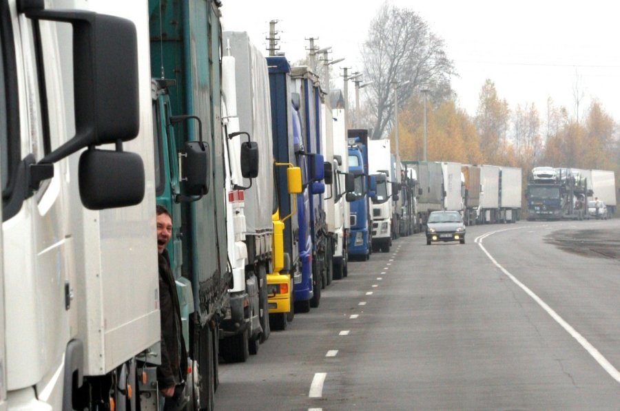
[[[172,238],[172,217],[157,206],[157,252],[159,262],[159,309],[161,314],[161,366],[157,368],[159,390],[165,397],[164,410],[176,409],[185,401],[187,352],[181,329],[180,309],[174,275],[166,246]]]

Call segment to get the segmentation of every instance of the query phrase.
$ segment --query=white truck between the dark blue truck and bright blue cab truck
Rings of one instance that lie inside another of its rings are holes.
[[[326,104],[322,105],[321,119],[324,123],[321,133],[324,160],[331,164],[333,174],[332,184],[325,189],[323,205],[327,220],[327,231],[331,238],[329,247],[333,254],[332,277],[335,280],[340,280],[348,273],[347,248],[350,224],[349,203],[346,199],[349,147],[347,145],[347,125],[344,118],[344,97],[340,89],[329,92]]]

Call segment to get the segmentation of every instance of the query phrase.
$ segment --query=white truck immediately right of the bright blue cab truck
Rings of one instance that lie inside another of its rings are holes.
[[[376,182],[372,198],[372,247],[373,251],[389,253],[393,229],[390,140],[369,140],[368,151],[369,173],[375,176]]]

